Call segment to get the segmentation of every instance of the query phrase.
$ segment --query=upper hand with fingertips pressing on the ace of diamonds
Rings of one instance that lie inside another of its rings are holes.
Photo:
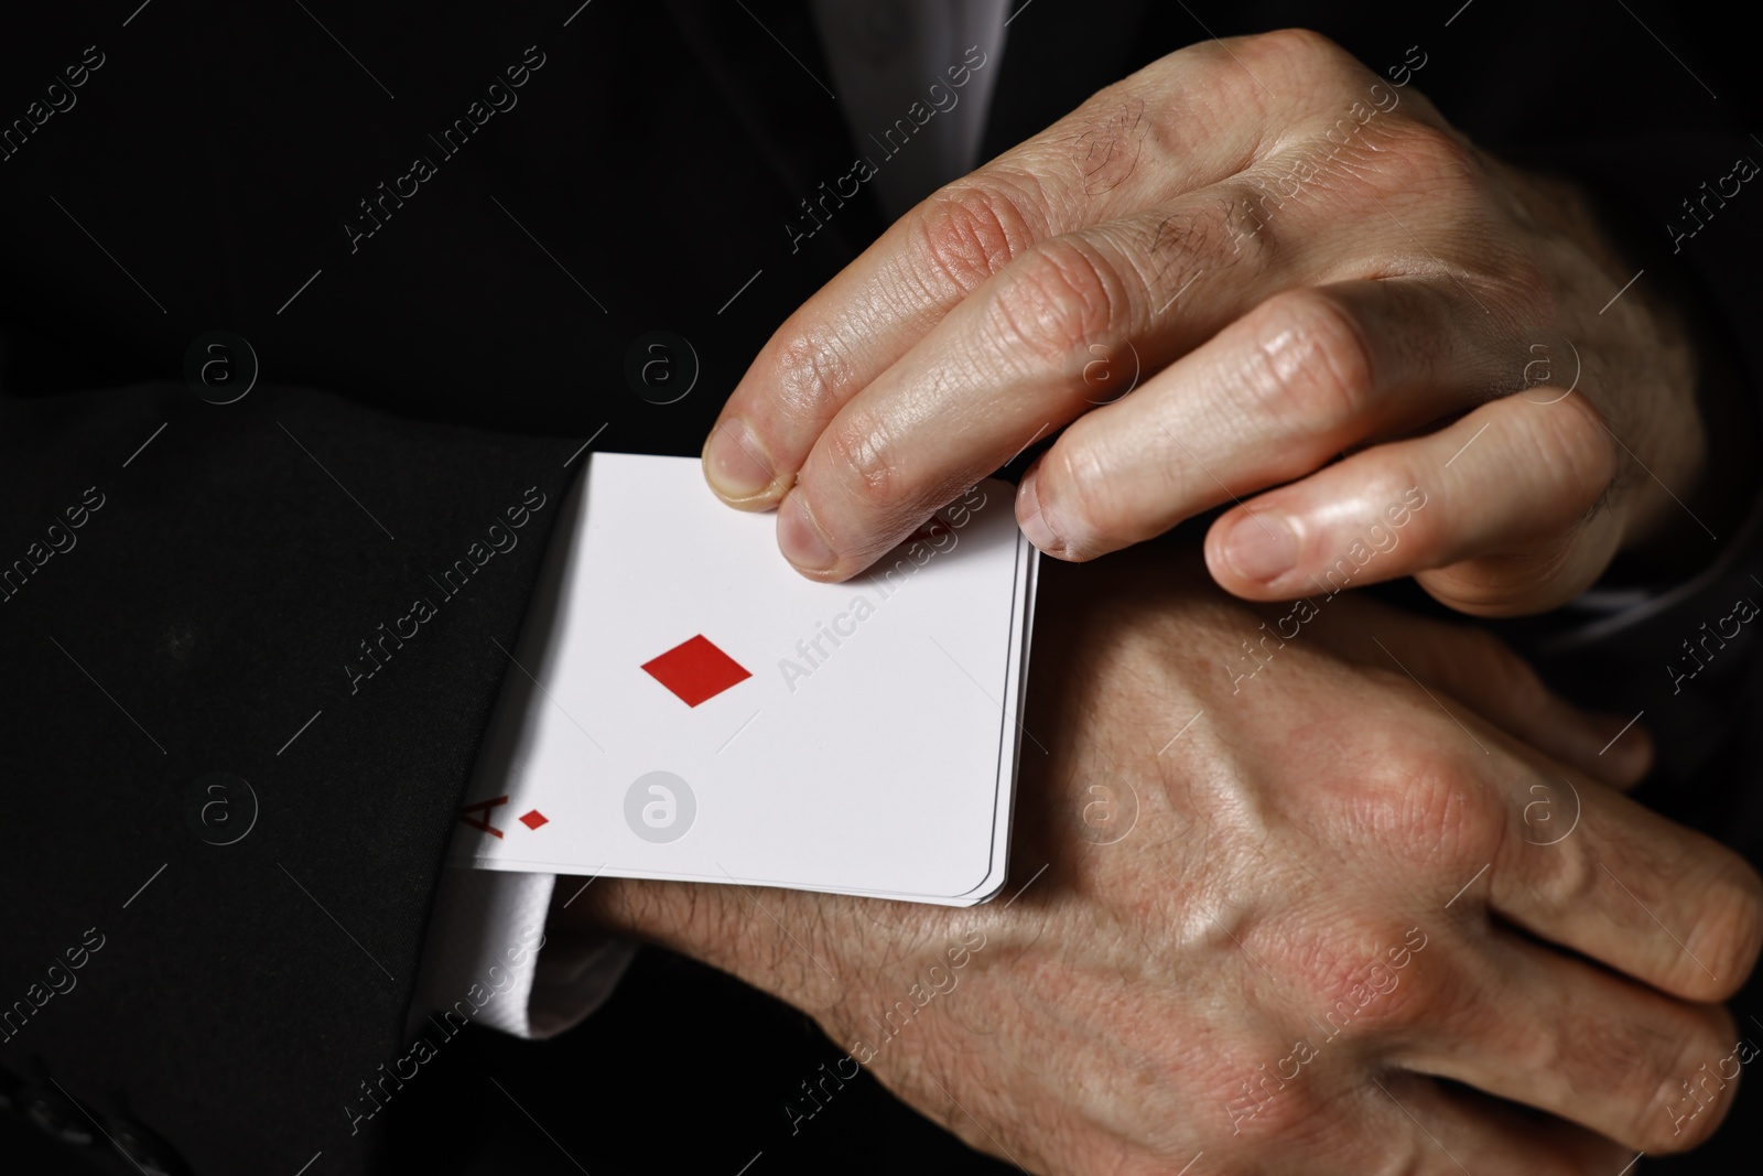
[[[1017,501],[1049,555],[1236,501],[1206,554],[1238,596],[1416,575],[1543,610],[1696,527],[1698,365],[1645,284],[1613,298],[1633,273],[1574,189],[1326,39],[1204,42],[890,227],[760,353],[705,474],[841,580],[1067,427]]]

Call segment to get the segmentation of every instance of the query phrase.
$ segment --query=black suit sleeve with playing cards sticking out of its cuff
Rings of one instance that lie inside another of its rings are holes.
[[[28,1093],[192,1171],[367,1167],[344,1107],[402,1051],[578,444],[287,388],[4,404],[0,1067]]]

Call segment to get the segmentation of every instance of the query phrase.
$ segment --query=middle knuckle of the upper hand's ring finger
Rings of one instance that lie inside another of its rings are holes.
[[[1352,312],[1319,289],[1269,298],[1252,321],[1248,386],[1261,411],[1294,432],[1358,421],[1377,388],[1372,346]]]

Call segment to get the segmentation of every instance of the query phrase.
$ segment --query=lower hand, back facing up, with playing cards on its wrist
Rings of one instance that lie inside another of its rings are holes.
[[[1343,598],[1262,644],[1153,554],[1045,569],[993,903],[608,878],[554,917],[777,993],[839,1076],[1035,1172],[1613,1176],[1705,1139],[1759,882],[1608,786],[1645,744],[1599,756],[1483,633]]]

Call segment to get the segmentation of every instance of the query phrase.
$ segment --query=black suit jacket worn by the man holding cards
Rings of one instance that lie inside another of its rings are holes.
[[[1458,125],[1585,176],[1655,234],[1659,279],[1703,301],[1756,386],[1763,354],[1740,330],[1756,212],[1661,247],[1680,197],[1735,153],[1763,157],[1719,30],[1645,0],[1188,7],[1023,5],[987,153],[1209,33],[1310,25],[1379,71],[1417,44],[1416,85]],[[781,0],[7,18],[0,1102],[166,1171],[383,1162],[383,1123],[354,1132],[344,1107],[404,1051],[499,647],[575,455],[589,437],[696,451],[769,331],[883,227],[859,197],[792,249],[799,201],[852,155],[811,74],[829,78],[806,9]],[[651,331],[689,340],[668,344],[672,388],[695,379],[684,398],[633,383]],[[233,383],[203,398],[189,372],[210,361]],[[210,402],[252,370],[249,395]],[[515,541],[481,557],[497,524]],[[458,561],[469,578],[446,582]],[[416,636],[384,642],[418,599]],[[1703,605],[1645,640],[1567,642],[1557,672],[1627,705]],[[1661,730],[1698,735],[1671,772],[1685,792],[1663,800],[1703,820],[1730,806],[1687,790],[1698,769],[1726,756],[1754,776],[1731,742],[1756,714],[1747,666],[1735,651],[1722,670],[1742,681],[1648,702],[1670,707]],[[651,979],[707,984],[668,975]],[[569,1072],[582,1102],[547,1127],[577,1153],[624,1135],[645,1104],[619,1102],[619,1076],[695,1024],[628,1040],[601,1024],[598,1063]],[[776,1083],[777,1102],[792,1093]],[[483,1114],[527,1130],[487,1088],[450,1105],[460,1139]],[[755,1125],[748,1148],[739,1116],[700,1114],[730,1171],[786,1127]],[[769,1164],[790,1164],[781,1148]]]

